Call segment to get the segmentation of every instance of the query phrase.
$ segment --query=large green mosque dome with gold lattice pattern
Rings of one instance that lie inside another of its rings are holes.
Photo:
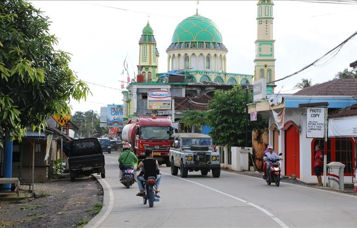
[[[196,13],[182,20],[175,29],[172,44],[182,42],[222,43],[222,35],[213,21]]]

